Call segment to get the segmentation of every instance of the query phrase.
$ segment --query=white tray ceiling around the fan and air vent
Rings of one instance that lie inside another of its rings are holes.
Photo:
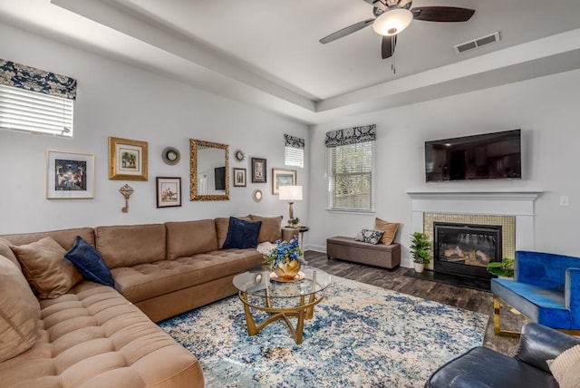
[[[0,21],[305,123],[580,67],[580,1],[413,5],[476,13],[465,23],[413,21],[399,35],[396,74],[372,27],[318,42],[371,18],[363,0],[0,0]],[[453,50],[496,31],[496,44]]]

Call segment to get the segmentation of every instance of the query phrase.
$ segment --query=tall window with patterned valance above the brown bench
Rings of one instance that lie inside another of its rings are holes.
[[[374,210],[374,139],[374,125],[326,134],[328,209]]]

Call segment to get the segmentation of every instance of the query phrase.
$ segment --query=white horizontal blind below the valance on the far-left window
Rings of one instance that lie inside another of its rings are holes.
[[[0,85],[0,128],[73,136],[73,100]]]

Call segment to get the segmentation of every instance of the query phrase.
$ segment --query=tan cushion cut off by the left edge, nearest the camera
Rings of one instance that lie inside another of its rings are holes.
[[[0,363],[33,346],[39,319],[40,305],[22,272],[0,256]]]

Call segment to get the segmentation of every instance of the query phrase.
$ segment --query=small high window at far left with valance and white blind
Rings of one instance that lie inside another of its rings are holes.
[[[0,129],[73,136],[76,80],[0,59]]]

